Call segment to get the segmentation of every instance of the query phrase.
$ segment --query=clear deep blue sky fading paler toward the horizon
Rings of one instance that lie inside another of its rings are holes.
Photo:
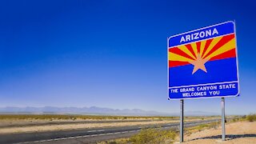
[[[179,111],[167,100],[166,38],[235,20],[241,96],[256,112],[254,1],[1,1],[0,106],[100,106]],[[220,98],[185,110],[221,112]]]

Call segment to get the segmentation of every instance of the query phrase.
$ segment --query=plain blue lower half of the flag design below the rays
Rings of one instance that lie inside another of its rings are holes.
[[[194,74],[194,65],[169,68],[169,87],[209,84],[216,82],[238,81],[236,58],[226,58],[205,63],[207,73],[198,70]]]

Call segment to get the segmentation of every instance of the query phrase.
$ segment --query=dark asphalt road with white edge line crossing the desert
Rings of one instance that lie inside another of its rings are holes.
[[[216,122],[220,119],[210,119],[195,122],[185,122],[185,127],[197,126],[202,123]],[[159,125],[158,125],[159,126]],[[162,124],[162,129],[177,129],[179,122]],[[122,126],[104,127],[83,130],[58,130],[22,134],[0,134],[0,143],[94,143],[114,138],[126,138],[138,133],[142,128],[152,126]]]

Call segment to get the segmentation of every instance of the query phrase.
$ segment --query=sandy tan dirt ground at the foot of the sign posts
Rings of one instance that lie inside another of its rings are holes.
[[[198,143],[245,143],[256,144],[256,122],[234,122],[226,124],[226,141],[222,142],[222,127],[202,130],[190,135],[184,135],[184,144]],[[178,140],[179,141],[179,140]]]

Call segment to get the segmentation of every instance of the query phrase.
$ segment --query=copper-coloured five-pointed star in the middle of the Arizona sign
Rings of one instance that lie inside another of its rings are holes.
[[[209,59],[210,59],[210,58],[202,59],[201,55],[198,54],[198,57],[197,57],[194,61],[191,61],[191,62],[190,62],[192,65],[194,65],[194,70],[192,71],[192,74],[194,74],[195,72],[197,72],[199,69],[201,69],[201,70],[203,70],[204,72],[207,73],[205,63],[206,63],[207,61],[209,61]]]

